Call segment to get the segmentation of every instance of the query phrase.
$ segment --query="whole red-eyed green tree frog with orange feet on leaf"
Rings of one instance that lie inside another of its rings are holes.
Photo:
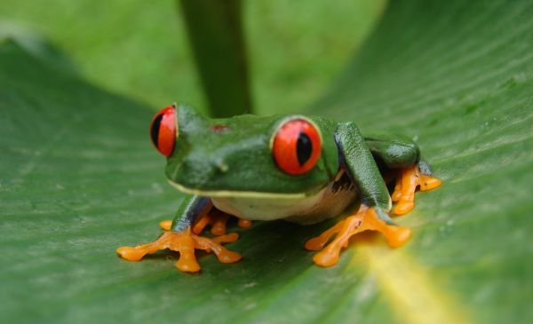
[[[200,271],[195,249],[212,251],[223,263],[241,258],[221,245],[238,239],[226,233],[229,216],[243,227],[274,219],[310,225],[357,204],[353,215],[306,241],[306,249],[319,251],[314,263],[337,264],[350,237],[367,230],[399,247],[411,232],[389,213],[413,209],[417,187],[441,185],[410,138],[363,137],[354,122],[305,115],[210,119],[193,107],[172,105],[155,115],[150,135],[167,157],[170,184],[187,196],[173,221],[160,224],[165,232],[158,239],[116,252],[138,261],[159,249],[178,251],[176,266],[183,272]],[[395,181],[393,194],[388,181]],[[200,235],[206,225],[216,236]]]

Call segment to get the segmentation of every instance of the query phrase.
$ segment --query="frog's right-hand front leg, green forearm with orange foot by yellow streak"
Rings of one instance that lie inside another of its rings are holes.
[[[378,231],[386,236],[391,247],[399,247],[410,239],[410,229],[394,225],[387,212],[392,207],[386,184],[370,147],[353,122],[341,123],[336,131],[336,142],[341,167],[351,181],[358,186],[361,207],[357,213],[346,217],[321,235],[306,241],[306,249],[320,250],[314,263],[322,266],[335,265],[342,248],[350,237],[367,230]],[[335,235],[335,238],[331,238]],[[326,243],[330,243],[324,248]]]

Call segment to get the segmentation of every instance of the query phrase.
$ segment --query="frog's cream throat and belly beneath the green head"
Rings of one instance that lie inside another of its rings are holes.
[[[357,190],[346,174],[317,194],[294,198],[211,197],[213,205],[230,215],[251,220],[285,219],[314,224],[335,217],[357,198]]]

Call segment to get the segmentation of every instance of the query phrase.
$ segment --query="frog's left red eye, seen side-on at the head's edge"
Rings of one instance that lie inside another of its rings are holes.
[[[155,114],[150,124],[150,138],[157,151],[170,156],[176,144],[176,108],[164,107]]]

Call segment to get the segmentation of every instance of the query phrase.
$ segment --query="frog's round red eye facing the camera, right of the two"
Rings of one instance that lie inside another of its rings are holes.
[[[283,172],[306,173],[314,168],[322,150],[322,138],[311,122],[297,118],[285,122],[274,135],[272,154]]]

